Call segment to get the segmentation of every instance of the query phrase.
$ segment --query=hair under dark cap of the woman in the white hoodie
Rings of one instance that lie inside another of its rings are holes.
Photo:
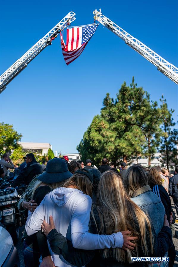
[[[85,169],[79,169],[82,172],[86,172],[87,170]],[[88,176],[82,173],[74,173],[72,177],[67,179],[63,187],[70,187],[73,186],[74,188],[81,190],[84,194],[89,195],[92,197],[92,189],[93,185]]]

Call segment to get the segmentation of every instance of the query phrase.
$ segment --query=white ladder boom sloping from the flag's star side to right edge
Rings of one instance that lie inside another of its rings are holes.
[[[150,61],[153,65],[157,67],[157,69],[166,75],[170,80],[174,83],[178,84],[178,68],[173,64],[169,63],[166,59],[163,59],[157,53],[155,53],[148,46],[144,45],[138,39],[134,38],[127,31],[123,30],[116,23],[114,23],[109,18],[106,18],[102,12],[94,10],[94,19],[98,20],[103,26],[114,32],[118,35],[122,40],[125,41],[127,45],[133,48],[136,52],[138,52],[145,59]]]

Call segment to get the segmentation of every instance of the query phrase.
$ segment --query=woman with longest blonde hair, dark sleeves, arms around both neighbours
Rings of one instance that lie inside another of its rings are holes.
[[[51,216],[50,216],[51,217]],[[133,256],[163,256],[171,244],[169,224],[165,218],[165,226],[155,234],[147,215],[127,195],[118,173],[108,170],[104,172],[98,184],[97,206],[92,208],[90,232],[100,235],[110,235],[118,231],[130,231],[135,249],[105,248],[96,252],[91,260],[88,251],[71,247],[70,242],[56,231],[52,217],[50,224],[45,221],[42,229],[47,235],[50,247],[56,253],[62,253],[64,258],[77,266],[127,266]],[[135,239],[135,240],[134,240]],[[83,249],[81,247],[81,249]],[[132,266],[143,266],[144,263],[132,263]]]

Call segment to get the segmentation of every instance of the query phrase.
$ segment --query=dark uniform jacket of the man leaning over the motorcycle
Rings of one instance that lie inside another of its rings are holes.
[[[17,176],[17,179],[12,183],[12,187],[16,187],[20,184],[29,185],[34,176],[41,174],[43,172],[42,167],[34,159],[29,162],[22,172]]]

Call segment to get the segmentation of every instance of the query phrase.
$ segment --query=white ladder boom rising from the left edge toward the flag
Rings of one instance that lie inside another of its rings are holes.
[[[0,94],[26,66],[34,59],[45,47],[51,45],[51,41],[57,37],[60,31],[63,31],[71,22],[75,20],[75,13],[69,12],[56,26],[51,29],[42,39],[40,39],[32,48],[30,48],[20,59],[18,59],[1,76]]]

